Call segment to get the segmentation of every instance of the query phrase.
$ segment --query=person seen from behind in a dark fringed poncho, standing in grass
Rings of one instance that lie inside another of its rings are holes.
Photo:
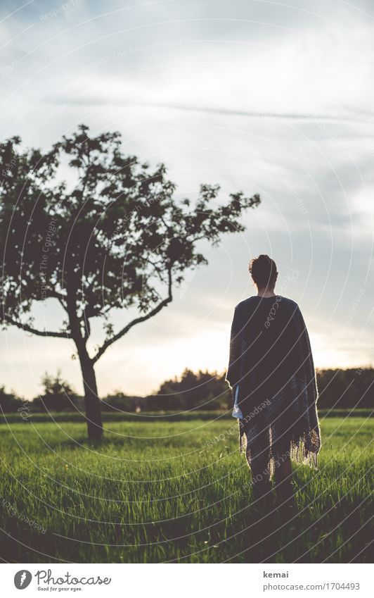
[[[321,448],[316,373],[299,306],[274,291],[276,263],[260,255],[250,261],[250,274],[257,295],[236,306],[226,380],[254,501],[271,504],[275,475],[278,504],[292,509],[291,460],[317,468]]]

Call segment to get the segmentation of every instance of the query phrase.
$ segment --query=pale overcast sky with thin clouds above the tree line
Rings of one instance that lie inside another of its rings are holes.
[[[120,130],[182,196],[219,182],[222,199],[262,197],[171,306],[107,351],[102,395],[152,392],[186,366],[224,370],[233,307],[254,294],[247,263],[264,252],[316,366],[374,363],[373,2],[3,0],[0,20],[1,138],[48,148],[79,123]],[[53,306],[35,314],[58,325]],[[1,338],[8,390],[32,397],[60,368],[82,392],[70,341]]]

